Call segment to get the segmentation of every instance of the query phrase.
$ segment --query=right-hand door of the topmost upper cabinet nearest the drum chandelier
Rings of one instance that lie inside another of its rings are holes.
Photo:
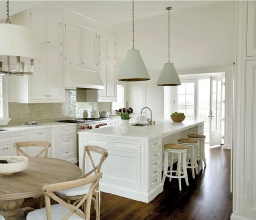
[[[61,47],[61,19],[57,16],[47,15],[46,41],[50,46]]]

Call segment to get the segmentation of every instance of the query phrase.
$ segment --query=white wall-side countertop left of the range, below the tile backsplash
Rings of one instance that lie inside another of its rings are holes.
[[[9,127],[0,127],[1,130],[5,130],[5,131],[1,131],[0,134],[7,133],[10,131],[26,131],[26,130],[49,128],[49,127],[61,127],[61,126],[68,126],[68,125],[76,126],[76,124],[73,124],[73,123],[63,123],[63,122],[49,122],[49,123],[42,123],[42,124],[31,125],[31,126],[16,125],[16,126],[9,126]]]

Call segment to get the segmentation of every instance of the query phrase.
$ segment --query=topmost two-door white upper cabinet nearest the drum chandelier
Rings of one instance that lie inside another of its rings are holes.
[[[31,10],[31,28],[36,33],[38,43],[52,47],[62,47],[62,18],[46,10]]]

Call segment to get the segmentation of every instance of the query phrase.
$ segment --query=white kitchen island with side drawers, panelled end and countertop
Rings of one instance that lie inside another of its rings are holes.
[[[109,155],[102,165],[100,190],[149,202],[163,191],[164,144],[177,143],[177,139],[202,134],[203,130],[203,121],[161,120],[152,126],[132,126],[127,134],[121,134],[118,126],[78,132],[79,166],[82,167],[85,145],[106,148]],[[92,168],[87,158],[85,167],[88,171]]]

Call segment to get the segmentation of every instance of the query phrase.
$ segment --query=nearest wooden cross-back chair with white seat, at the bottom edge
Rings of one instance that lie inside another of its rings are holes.
[[[45,208],[29,212],[26,219],[68,220],[72,215],[76,215],[73,216],[72,219],[89,220],[92,195],[95,191],[95,187],[99,184],[101,177],[102,173],[96,173],[92,176],[73,181],[44,185],[42,190],[44,192]],[[66,203],[55,194],[55,192],[58,190],[65,190],[89,184],[90,186],[88,193],[83,196],[76,206]],[[51,205],[51,199],[58,202],[58,204]],[[84,212],[79,209],[82,204],[84,204],[84,207],[86,207]]]

